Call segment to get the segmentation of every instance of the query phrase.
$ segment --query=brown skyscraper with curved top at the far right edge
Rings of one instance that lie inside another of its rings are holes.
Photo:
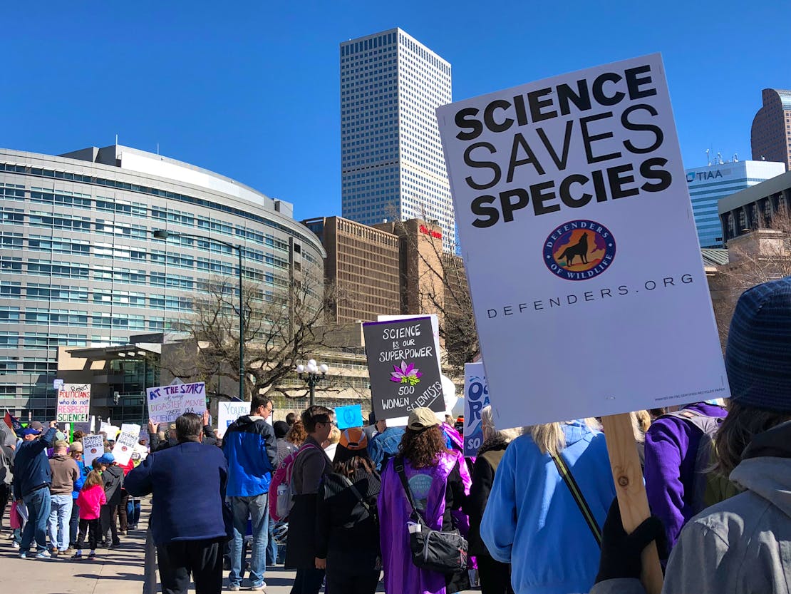
[[[763,107],[750,131],[752,158],[785,163],[791,170],[791,91],[763,89],[761,94]]]

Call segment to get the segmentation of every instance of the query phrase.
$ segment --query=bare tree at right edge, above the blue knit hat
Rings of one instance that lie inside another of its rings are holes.
[[[760,226],[728,242],[729,263],[718,268],[714,314],[723,348],[728,341],[736,301],[756,284],[791,276],[791,216],[781,208]]]

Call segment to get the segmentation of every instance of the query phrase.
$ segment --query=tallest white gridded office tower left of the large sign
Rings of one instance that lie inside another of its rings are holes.
[[[456,242],[437,116],[450,64],[401,29],[340,44],[341,195],[346,219],[436,220]]]

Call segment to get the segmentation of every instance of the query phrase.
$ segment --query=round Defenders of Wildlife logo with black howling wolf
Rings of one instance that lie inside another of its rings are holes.
[[[566,280],[588,280],[607,270],[615,259],[615,238],[596,221],[570,221],[547,237],[543,261]]]

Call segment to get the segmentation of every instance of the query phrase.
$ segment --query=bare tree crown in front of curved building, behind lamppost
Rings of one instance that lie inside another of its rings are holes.
[[[237,284],[219,280],[195,302],[195,313],[182,322],[191,338],[166,362],[167,371],[202,381],[239,382],[239,297]],[[326,304],[335,299],[323,280],[305,276],[275,291],[244,284],[244,398],[277,390],[292,398],[305,395],[294,366],[324,346]],[[191,346],[189,346],[191,345]]]

